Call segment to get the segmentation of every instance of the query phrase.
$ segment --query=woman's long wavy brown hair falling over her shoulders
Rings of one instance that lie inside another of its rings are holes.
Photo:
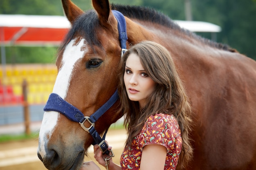
[[[131,53],[139,56],[144,70],[156,83],[155,91],[148,97],[144,108],[139,108],[139,102],[128,98],[124,84],[126,60]],[[177,119],[182,133],[182,151],[177,167],[184,168],[193,154],[189,138],[191,107],[170,53],[164,46],[155,42],[140,42],[124,54],[119,73],[121,82],[119,111],[124,113],[124,125],[128,133],[126,145],[132,144],[132,140],[138,135],[150,115],[154,113],[172,114]]]

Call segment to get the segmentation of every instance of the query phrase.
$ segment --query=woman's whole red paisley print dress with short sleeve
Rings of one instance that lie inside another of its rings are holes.
[[[141,132],[125,147],[121,155],[122,170],[139,170],[143,147],[159,144],[167,148],[164,170],[175,170],[182,148],[179,124],[173,115],[154,114],[148,117]]]

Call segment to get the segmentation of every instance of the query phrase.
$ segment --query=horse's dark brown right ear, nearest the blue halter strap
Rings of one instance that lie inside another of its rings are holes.
[[[106,24],[110,13],[108,0],[92,0],[92,5],[99,15],[101,24]]]

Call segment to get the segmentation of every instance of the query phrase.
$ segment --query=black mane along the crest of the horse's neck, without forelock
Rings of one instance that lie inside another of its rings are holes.
[[[175,24],[173,20],[171,20],[168,16],[164,15],[156,11],[155,9],[149,7],[140,7],[140,6],[126,6],[126,5],[119,5],[119,4],[112,4],[112,9],[120,11],[123,15],[127,16],[128,18],[134,18],[142,21],[154,22],[156,24],[160,24],[166,27],[169,27],[173,30],[180,31],[191,38],[195,38],[203,42],[204,44],[208,44],[209,46],[213,46],[218,49],[222,49],[225,51],[236,52],[236,50],[230,48],[226,44],[221,44],[217,42],[213,42],[209,39],[202,38],[195,33],[182,29],[179,25]]]

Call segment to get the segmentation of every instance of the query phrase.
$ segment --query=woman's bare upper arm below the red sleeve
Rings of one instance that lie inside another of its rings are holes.
[[[164,170],[167,148],[158,144],[143,147],[140,170]]]

